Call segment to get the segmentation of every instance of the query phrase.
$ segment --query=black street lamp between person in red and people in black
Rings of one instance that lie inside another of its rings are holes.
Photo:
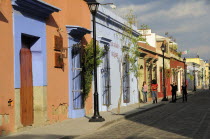
[[[165,88],[165,63],[164,63],[164,59],[165,59],[165,50],[166,49],[166,45],[165,45],[165,41],[163,42],[162,46],[161,46],[161,51],[163,52],[163,99],[162,101],[168,101],[168,99],[166,98],[166,88]]]

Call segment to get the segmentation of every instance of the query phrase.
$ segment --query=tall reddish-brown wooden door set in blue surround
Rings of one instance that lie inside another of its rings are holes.
[[[24,44],[23,44],[24,46]],[[20,114],[23,126],[33,124],[32,55],[29,48],[20,50]]]

